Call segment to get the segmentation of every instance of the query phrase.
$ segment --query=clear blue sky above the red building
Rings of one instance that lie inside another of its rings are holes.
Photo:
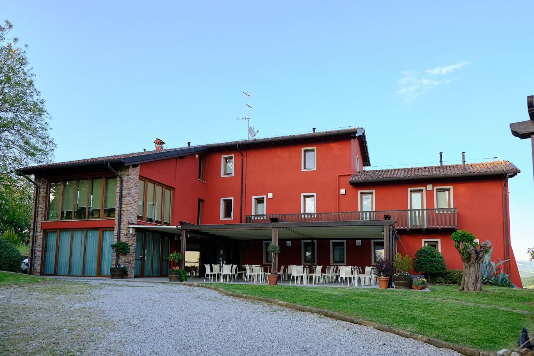
[[[363,126],[373,165],[498,156],[512,246],[534,246],[529,2],[3,2],[29,45],[57,161]],[[9,36],[8,36],[9,37]],[[452,162],[454,161],[454,162]],[[431,164],[431,163],[429,163]],[[485,239],[485,236],[477,236]]]

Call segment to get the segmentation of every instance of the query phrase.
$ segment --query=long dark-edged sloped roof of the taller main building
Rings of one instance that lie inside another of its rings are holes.
[[[16,169],[15,171],[19,173],[20,175],[27,175],[27,174],[33,174],[34,172],[37,172],[37,171],[43,171],[43,170],[49,170],[49,169],[55,169],[55,168],[78,167],[80,165],[85,165],[85,164],[97,164],[97,163],[136,164],[136,163],[165,159],[165,158],[170,158],[170,157],[175,157],[175,156],[182,156],[186,154],[199,153],[199,152],[207,151],[210,148],[230,147],[230,146],[235,146],[235,145],[248,146],[248,145],[256,145],[256,144],[268,143],[268,142],[290,141],[290,140],[295,140],[295,139],[311,139],[315,137],[325,137],[325,136],[338,136],[338,135],[345,135],[348,133],[349,134],[354,133],[357,136],[363,137],[363,140],[360,140],[360,148],[362,148],[362,156],[364,159],[364,164],[370,165],[368,152],[367,152],[367,142],[365,140],[365,130],[363,128],[352,127],[349,129],[341,129],[341,130],[317,131],[317,132],[310,132],[310,133],[299,133],[296,135],[285,135],[285,136],[258,138],[258,139],[250,139],[250,140],[235,140],[235,141],[228,141],[224,143],[215,143],[215,144],[197,145],[197,146],[185,146],[185,147],[177,147],[177,148],[165,148],[165,149],[160,149],[158,151],[152,150],[152,151],[144,151],[144,152],[132,152],[132,153],[125,153],[125,154],[111,155],[111,156],[66,161],[66,162],[47,163],[47,164],[34,165],[30,167],[22,167],[22,168]]]

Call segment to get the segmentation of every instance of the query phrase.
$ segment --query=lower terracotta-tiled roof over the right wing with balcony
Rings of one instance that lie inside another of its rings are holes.
[[[509,161],[492,161],[480,163],[447,164],[425,167],[393,168],[360,171],[350,177],[350,184],[371,183],[375,181],[408,180],[421,178],[453,178],[466,176],[504,175],[520,173],[519,168]]]

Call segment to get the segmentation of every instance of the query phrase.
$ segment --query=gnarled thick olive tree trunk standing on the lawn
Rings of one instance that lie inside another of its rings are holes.
[[[467,245],[467,257],[462,256],[461,251]],[[491,248],[491,241],[486,240],[480,244],[480,248],[476,249],[470,243],[459,243],[456,248],[460,252],[462,264],[464,265],[464,276],[462,276],[462,283],[460,289],[467,291],[482,291],[482,275],[481,265],[484,257]]]

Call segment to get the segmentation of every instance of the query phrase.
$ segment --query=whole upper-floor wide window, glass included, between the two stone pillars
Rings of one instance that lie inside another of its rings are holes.
[[[116,189],[116,177],[50,182],[46,217],[49,220],[113,218]]]

